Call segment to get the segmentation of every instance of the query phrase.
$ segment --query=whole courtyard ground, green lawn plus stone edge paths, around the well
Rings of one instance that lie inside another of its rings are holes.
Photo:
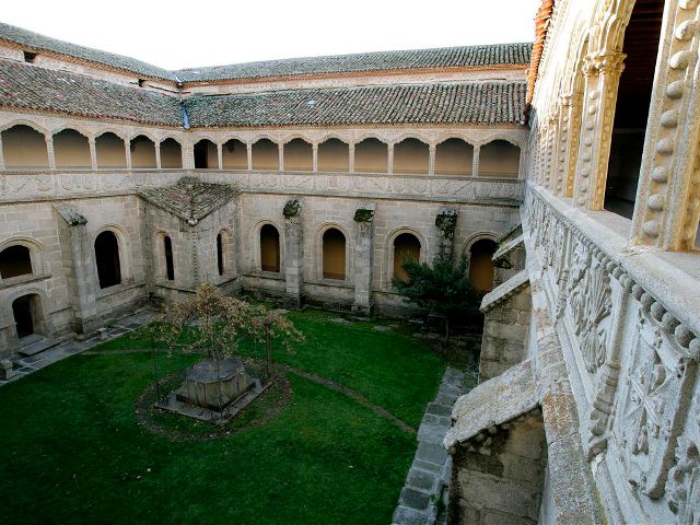
[[[472,374],[415,326],[287,313],[305,339],[276,345],[272,385],[217,424],[153,408],[154,377],[167,390],[202,359],[153,350],[158,315],[18,357],[0,386],[0,522],[386,524],[442,509],[440,443]],[[264,375],[261,346],[238,355]]]

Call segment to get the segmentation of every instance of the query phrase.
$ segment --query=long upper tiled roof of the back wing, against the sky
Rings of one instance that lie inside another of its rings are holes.
[[[406,51],[362,52],[329,57],[290,58],[175,71],[185,82],[261,79],[298,74],[324,74],[410,69],[527,65],[532,44],[493,44]]]

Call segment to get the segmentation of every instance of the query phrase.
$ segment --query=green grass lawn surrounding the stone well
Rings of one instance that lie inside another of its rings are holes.
[[[291,354],[278,349],[279,361],[418,425],[441,358],[368,322],[290,315],[306,341]],[[151,354],[114,350],[139,345],[121,338],[0,388],[1,523],[390,522],[415,435],[288,373],[293,397],[276,419],[226,438],[173,441],[136,423],[133,402],[153,381]],[[158,357],[162,374],[197,359]]]

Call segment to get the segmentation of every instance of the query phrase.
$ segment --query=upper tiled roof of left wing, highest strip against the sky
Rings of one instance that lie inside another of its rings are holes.
[[[166,69],[151,66],[135,58],[115,55],[114,52],[101,51],[90,47],[70,44],[69,42],[57,40],[48,36],[39,35],[32,31],[15,27],[14,25],[0,22],[0,39],[13,42],[22,46],[27,51],[52,51],[67,55],[91,62],[97,62],[110,68],[130,71],[143,77],[175,81],[175,74]]]

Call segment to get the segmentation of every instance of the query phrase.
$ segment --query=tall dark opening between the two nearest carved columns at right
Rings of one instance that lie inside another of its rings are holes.
[[[625,30],[627,58],[615,106],[604,207],[628,219],[634,211],[663,15],[662,0],[637,0]]]

